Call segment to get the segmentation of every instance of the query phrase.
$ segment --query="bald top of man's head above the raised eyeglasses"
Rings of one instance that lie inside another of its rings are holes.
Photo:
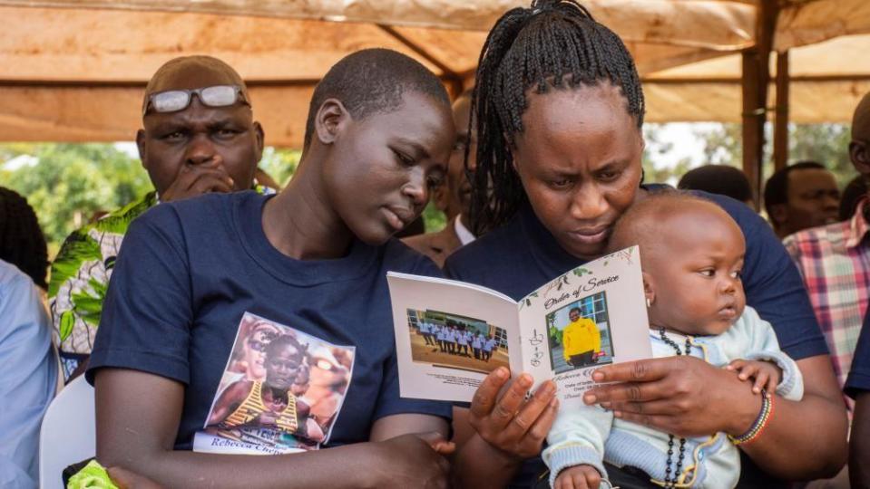
[[[181,56],[164,63],[145,86],[142,104],[152,93],[170,90],[193,90],[214,85],[238,85],[250,101],[248,87],[238,72],[226,62],[211,56]]]

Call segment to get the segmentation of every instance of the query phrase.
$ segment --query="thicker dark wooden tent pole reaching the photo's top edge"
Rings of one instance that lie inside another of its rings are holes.
[[[752,187],[755,208],[760,208],[764,124],[767,120],[767,85],[770,82],[770,52],[777,25],[777,0],[761,0],[756,44],[743,52],[743,171]]]

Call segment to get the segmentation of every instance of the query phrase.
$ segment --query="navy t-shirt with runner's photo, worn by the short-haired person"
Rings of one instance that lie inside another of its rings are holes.
[[[185,384],[175,447],[191,449],[219,385],[228,376],[242,377],[228,369],[236,364],[230,357],[243,326],[249,346],[267,352],[266,341],[290,331],[342,347],[306,343],[313,345],[309,354],[327,360],[325,369],[350,379],[329,399],[340,409],[326,446],[367,441],[372,424],[389,415],[449,419],[449,404],[399,397],[386,285],[387,271],[440,275],[435,264],[397,240],[383,246],[357,241],[335,260],[289,258],[263,231],[268,198],[254,192],[209,195],[161,204],[136,219],[115,264],[87,379],[93,383],[97,369],[112,367]],[[252,318],[267,324],[246,324]],[[290,330],[276,333],[276,325]],[[352,365],[342,365],[339,360],[348,357],[342,354],[351,350]],[[262,408],[251,402],[255,412]]]

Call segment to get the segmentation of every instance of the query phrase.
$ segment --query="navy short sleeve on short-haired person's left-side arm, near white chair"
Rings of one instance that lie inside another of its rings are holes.
[[[187,384],[193,307],[181,223],[170,205],[133,221],[118,254],[87,371],[135,369]]]

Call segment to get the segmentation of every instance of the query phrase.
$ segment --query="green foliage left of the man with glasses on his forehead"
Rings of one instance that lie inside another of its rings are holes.
[[[112,144],[0,144],[0,186],[27,198],[52,252],[95,213],[152,189],[139,160]]]

